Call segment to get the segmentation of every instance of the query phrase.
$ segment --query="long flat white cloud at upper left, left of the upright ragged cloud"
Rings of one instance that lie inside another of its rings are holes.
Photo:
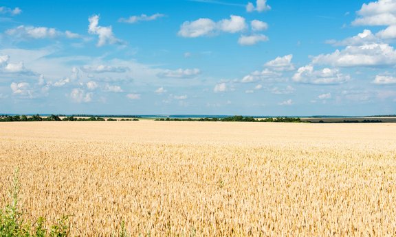
[[[48,27],[33,27],[19,25],[13,29],[8,29],[5,34],[12,36],[12,38],[19,38],[22,40],[32,39],[44,39],[44,38],[56,38],[56,37],[66,37],[66,38],[80,38],[79,34],[73,32],[61,32],[55,28]]]

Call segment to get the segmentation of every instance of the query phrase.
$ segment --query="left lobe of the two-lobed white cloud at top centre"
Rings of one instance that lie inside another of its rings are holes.
[[[209,18],[199,18],[197,21],[185,21],[179,30],[179,36],[186,38],[196,38],[213,34],[216,23]]]

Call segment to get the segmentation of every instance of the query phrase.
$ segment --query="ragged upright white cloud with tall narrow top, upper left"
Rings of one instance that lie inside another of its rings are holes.
[[[124,42],[118,38],[115,38],[113,34],[113,29],[111,26],[103,27],[99,26],[99,16],[94,15],[88,18],[89,26],[88,26],[88,33],[95,34],[98,36],[98,47],[102,47],[103,45],[113,45],[113,44],[120,44],[123,45]]]

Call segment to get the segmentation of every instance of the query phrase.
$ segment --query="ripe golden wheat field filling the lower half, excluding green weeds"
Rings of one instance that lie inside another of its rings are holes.
[[[0,123],[0,204],[72,236],[396,236],[396,124]]]

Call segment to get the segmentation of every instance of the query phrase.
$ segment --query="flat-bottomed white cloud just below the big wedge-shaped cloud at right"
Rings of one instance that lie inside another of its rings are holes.
[[[315,71],[314,66],[307,65],[298,68],[297,72],[293,75],[294,82],[306,84],[342,84],[348,82],[351,77],[344,75],[336,68],[323,68],[322,70]]]

